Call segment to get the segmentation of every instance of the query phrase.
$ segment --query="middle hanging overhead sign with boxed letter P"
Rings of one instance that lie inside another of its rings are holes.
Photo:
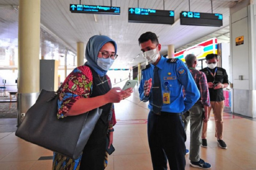
[[[173,24],[173,10],[128,8],[128,22]]]

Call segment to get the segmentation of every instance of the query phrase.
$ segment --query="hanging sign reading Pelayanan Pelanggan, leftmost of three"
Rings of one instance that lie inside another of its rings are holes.
[[[72,13],[95,13],[95,14],[120,15],[120,7],[70,4],[69,10]]]

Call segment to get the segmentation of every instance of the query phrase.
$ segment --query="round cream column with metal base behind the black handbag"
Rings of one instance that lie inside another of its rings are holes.
[[[40,0],[19,0],[18,126],[39,93]]]

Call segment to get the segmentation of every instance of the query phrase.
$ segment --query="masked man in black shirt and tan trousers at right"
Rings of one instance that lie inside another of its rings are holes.
[[[215,119],[215,137],[217,138],[218,145],[227,149],[226,143],[223,141],[223,109],[224,109],[224,96],[223,88],[228,87],[228,75],[224,68],[217,67],[218,56],[217,54],[208,54],[206,56],[207,66],[201,71],[206,74],[209,94],[210,94],[210,104],[208,108],[208,117],[210,116],[210,111],[213,109],[214,119]],[[202,145],[207,147],[207,123],[203,123],[202,132]]]

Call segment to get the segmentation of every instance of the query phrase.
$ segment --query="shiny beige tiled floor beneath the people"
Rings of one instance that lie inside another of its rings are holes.
[[[107,170],[152,170],[147,141],[147,103],[140,102],[137,89],[133,96],[115,104],[117,125],[114,132],[115,152],[109,156]],[[0,170],[50,170],[52,151],[15,136],[16,119],[0,120]],[[201,158],[212,170],[256,170],[256,121],[225,113],[224,140],[228,149],[217,146],[213,115],[208,124],[208,148],[201,148]],[[189,129],[186,146],[189,148]],[[186,155],[186,170],[189,156]]]

